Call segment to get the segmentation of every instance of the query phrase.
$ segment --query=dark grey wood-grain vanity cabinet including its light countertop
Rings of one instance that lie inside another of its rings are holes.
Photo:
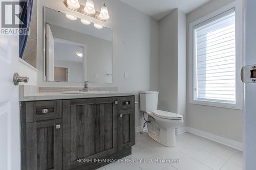
[[[133,93],[36,93],[20,111],[22,169],[96,169],[135,144]]]

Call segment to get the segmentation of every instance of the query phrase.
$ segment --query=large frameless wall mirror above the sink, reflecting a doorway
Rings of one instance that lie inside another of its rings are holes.
[[[45,81],[112,83],[112,30],[82,21],[44,7]]]

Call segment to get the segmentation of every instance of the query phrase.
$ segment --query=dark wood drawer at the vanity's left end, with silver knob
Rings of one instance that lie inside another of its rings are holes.
[[[62,118],[62,101],[26,102],[26,123]]]

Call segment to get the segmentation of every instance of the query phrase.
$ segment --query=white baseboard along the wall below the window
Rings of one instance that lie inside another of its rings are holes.
[[[241,143],[241,142],[231,140],[231,139],[227,139],[225,137],[221,137],[221,136],[218,136],[218,135],[215,135],[215,134],[211,134],[211,133],[204,132],[204,131],[194,129],[194,128],[190,128],[190,127],[184,127],[184,129],[185,129],[186,132],[193,133],[193,134],[201,136],[203,138],[206,138],[206,139],[224,144],[224,145],[226,145],[230,148],[234,148],[234,149],[237,149],[239,151],[243,151],[243,143]],[[184,129],[182,129],[180,132],[184,133]]]

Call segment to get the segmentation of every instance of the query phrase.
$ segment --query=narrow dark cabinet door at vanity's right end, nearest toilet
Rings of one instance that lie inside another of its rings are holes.
[[[120,110],[118,119],[118,150],[132,147],[135,144],[134,109]]]

